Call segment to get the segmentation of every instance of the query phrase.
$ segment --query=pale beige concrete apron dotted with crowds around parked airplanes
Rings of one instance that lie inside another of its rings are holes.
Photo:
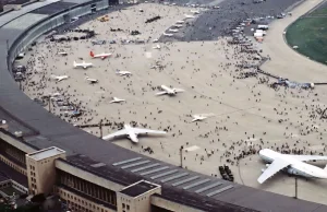
[[[307,3],[313,4],[313,1]],[[282,26],[286,27],[300,15],[298,10],[307,10],[306,7],[301,4],[292,17],[271,24],[265,43],[258,47],[263,49],[263,55],[269,55],[272,59],[264,64],[264,70],[267,68],[269,72],[294,80],[307,81],[324,76],[324,71],[317,71],[316,75],[304,78],[303,71],[298,78],[298,73],[292,73],[287,66],[278,66],[288,57],[282,58],[280,55],[281,58],[276,59],[280,52],[272,48],[275,38],[281,35],[279,31]],[[140,12],[140,9],[144,12]],[[204,13],[207,11],[199,10]],[[142,3],[111,12],[109,22],[95,20],[80,26],[98,34],[92,40],[116,40],[117,44],[112,45],[94,46],[87,39],[70,43],[40,39],[22,60],[23,64],[27,64],[28,72],[33,73],[25,81],[24,92],[31,98],[60,93],[83,115],[77,118],[65,117],[56,101],[51,103],[52,113],[73,125],[92,125],[101,119],[111,122],[111,126],[104,128],[104,134],[117,131],[124,122],[168,132],[166,137],[141,138],[136,145],[128,139],[113,141],[117,145],[174,165],[180,165],[179,150],[183,145],[184,149],[190,148],[190,151],[183,153],[183,167],[187,169],[219,177],[218,166],[228,164],[237,182],[292,196],[292,178],[286,175],[271,179],[271,184],[263,187],[256,182],[264,164],[255,155],[263,148],[290,153],[301,150],[303,154],[326,154],[325,120],[313,116],[317,108],[326,107],[325,89],[319,86],[306,91],[281,87],[275,91],[269,86],[275,82],[274,79],[263,75],[238,79],[241,72],[250,70],[240,69],[237,64],[256,64],[258,61],[253,60],[251,54],[240,52],[240,46],[229,45],[228,38],[159,43],[161,48],[154,49],[157,43],[153,43],[153,39],[159,38],[175,21],[184,19],[185,13],[190,13],[190,8]],[[162,19],[145,24],[147,19],[158,14]],[[195,23],[204,17],[199,15]],[[122,31],[112,31],[118,28]],[[135,30],[141,35],[130,35]],[[121,43],[123,39],[136,38],[149,42]],[[281,40],[277,39],[279,43]],[[281,43],[279,46],[282,46]],[[291,50],[283,48],[284,52]],[[97,54],[112,52],[112,57],[92,59],[88,55],[90,50]],[[65,51],[68,56],[60,56],[59,51]],[[293,52],[289,57],[293,57]],[[95,66],[87,70],[74,69],[74,60],[85,60]],[[157,68],[152,69],[154,66]],[[117,70],[131,71],[132,75],[120,76]],[[69,75],[69,79],[56,82],[51,74]],[[85,76],[97,79],[99,83],[92,85],[85,81]],[[162,84],[184,89],[185,92],[177,96],[156,96],[158,86]],[[113,96],[126,102],[109,104]],[[210,113],[215,116],[201,122],[191,122],[191,115]],[[97,128],[86,130],[99,136]],[[153,153],[144,151],[146,148],[150,148]],[[325,202],[325,181],[303,181],[301,185],[303,192],[299,198]],[[311,192],[313,189],[314,193]]]

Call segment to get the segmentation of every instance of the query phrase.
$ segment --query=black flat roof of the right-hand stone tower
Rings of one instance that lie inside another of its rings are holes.
[[[137,196],[141,196],[141,195],[143,195],[147,191],[150,191],[155,188],[158,188],[158,187],[159,187],[158,185],[152,184],[149,181],[141,180],[136,184],[133,184],[133,185],[124,188],[120,192],[135,198]]]

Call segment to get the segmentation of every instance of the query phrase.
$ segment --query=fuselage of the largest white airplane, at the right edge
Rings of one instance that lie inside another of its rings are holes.
[[[283,155],[271,150],[262,150],[259,156],[267,163],[272,163],[275,158],[284,158],[291,162],[291,165],[284,168],[288,174],[298,175],[306,178],[327,178],[327,170],[317,166],[298,161],[292,155]]]

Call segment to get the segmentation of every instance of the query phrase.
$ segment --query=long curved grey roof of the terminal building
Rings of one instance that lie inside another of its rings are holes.
[[[28,26],[78,7],[75,1],[45,2],[0,16],[0,118],[8,121],[12,132],[23,131],[25,141],[38,149],[58,146],[66,151],[68,163],[118,184],[128,186],[142,178],[159,184],[162,198],[204,211],[327,211],[322,204],[189,172],[104,142],[34,103],[20,91],[3,61],[11,45],[28,33]]]

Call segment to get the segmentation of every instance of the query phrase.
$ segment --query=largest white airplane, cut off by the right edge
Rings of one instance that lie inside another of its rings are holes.
[[[290,175],[299,175],[307,178],[327,178],[327,165],[323,169],[304,163],[318,160],[327,161],[327,156],[281,154],[269,149],[261,150],[259,156],[265,162],[271,163],[266,165],[266,169],[263,169],[263,174],[257,179],[259,184],[263,184],[281,169],[284,169]]]

